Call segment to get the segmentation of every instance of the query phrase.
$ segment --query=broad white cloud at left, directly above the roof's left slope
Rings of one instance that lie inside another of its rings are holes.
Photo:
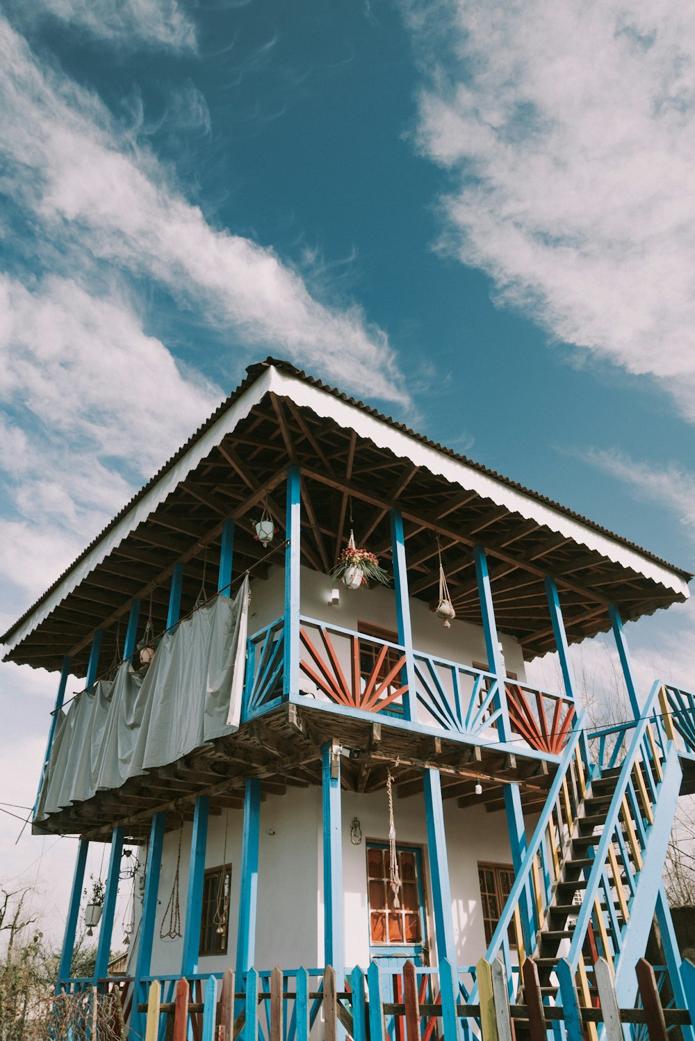
[[[0,574],[43,591],[222,397],[115,293],[0,276],[0,405],[12,409]]]

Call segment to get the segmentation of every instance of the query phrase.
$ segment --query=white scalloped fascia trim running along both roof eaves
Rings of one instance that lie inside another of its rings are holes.
[[[16,630],[11,641],[5,644],[5,654],[21,643],[36,626],[40,626],[51,611],[76,589],[80,582],[105,560],[124,538],[146,520],[210,451],[220,445],[222,439],[231,433],[241,420],[246,418],[251,409],[259,404],[268,391],[291,398],[295,405],[306,406],[324,418],[335,420],[339,426],[354,430],[361,437],[369,438],[379,448],[393,452],[398,458],[411,459],[417,466],[423,466],[431,474],[439,475],[453,484],[459,484],[463,488],[477,491],[496,505],[505,506],[529,520],[536,520],[539,525],[571,538],[588,550],[600,553],[601,556],[608,557],[614,563],[629,567],[665,588],[672,589],[678,595],[684,598],[690,595],[687,583],[668,567],[648,560],[635,550],[630,550],[629,547],[623,545],[608,535],[587,527],[580,520],[561,513],[532,496],[495,480],[490,475],[467,465],[462,460],[453,459],[438,449],[424,445],[412,435],[396,429],[383,420],[369,415],[368,412],[337,398],[335,395],[312,386],[298,376],[269,365],[190,446],[185,455],[163,474],[160,480],[138,499],[132,509],[128,510],[119,523],[93,547],[89,553],[65,576],[50,596],[25,618]]]

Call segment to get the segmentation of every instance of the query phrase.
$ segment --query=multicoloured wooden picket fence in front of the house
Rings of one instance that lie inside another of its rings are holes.
[[[558,962],[557,973],[572,979],[568,962]],[[581,1007],[576,989],[563,988],[563,1006],[544,1004],[533,959],[521,968],[523,1005],[510,1005],[508,981],[500,961],[481,959],[477,966],[479,1004],[460,1005],[455,990],[452,966],[439,966],[440,992],[427,994],[427,981],[418,981],[417,970],[407,962],[402,983],[396,988],[397,1001],[384,1000],[384,975],[374,962],[366,973],[357,967],[348,976],[345,989],[338,990],[336,974],[331,966],[324,972],[323,985],[311,991],[306,969],[292,973],[294,990],[285,989],[287,977],[282,969],[260,975],[255,969],[246,973],[243,991],[236,991],[235,977],[228,969],[220,981],[205,981],[203,1000],[191,1001],[188,981],[178,981],[173,1001],[161,1000],[161,985],[153,981],[148,1001],[137,1006],[136,1013],[145,1017],[145,1041],[340,1041],[345,1036],[353,1041],[514,1041],[527,1037],[530,1041],[554,1038],[567,1041],[597,1041],[602,1024],[606,1041],[625,1041],[623,1024],[632,1024],[636,1038],[666,1041],[667,1032],[692,1024],[687,1009],[662,1007],[660,988],[652,966],[642,959],[637,965],[641,1008],[619,1009],[613,985],[613,973],[603,959],[595,964],[597,995],[594,1005]],[[573,994],[573,999],[571,995]],[[429,1000],[427,999],[429,997]],[[569,1000],[568,1000],[569,997]],[[269,1002],[263,1007],[263,1002]],[[287,1010],[291,1007],[291,1022]],[[323,1013],[323,1023],[318,1014]],[[165,1021],[162,1021],[165,1017]],[[318,1030],[323,1027],[323,1030]],[[314,1029],[312,1031],[312,1029]],[[318,1032],[317,1032],[318,1031]],[[684,1032],[684,1035],[690,1032]],[[140,1035],[141,1036],[141,1035]]]

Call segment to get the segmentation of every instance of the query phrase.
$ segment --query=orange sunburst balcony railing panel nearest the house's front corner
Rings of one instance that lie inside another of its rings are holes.
[[[300,659],[300,669],[336,705],[362,709],[364,712],[381,712],[407,693],[408,684],[401,684],[398,679],[406,664],[406,655],[401,648],[363,636],[338,633],[350,644],[349,680],[327,627],[312,628],[320,636],[323,650],[312,642],[308,630],[303,626],[300,637],[309,660],[303,656]],[[360,664],[360,643],[363,642],[380,646],[368,674],[362,671]],[[395,651],[398,656],[392,663],[387,661],[389,651]]]

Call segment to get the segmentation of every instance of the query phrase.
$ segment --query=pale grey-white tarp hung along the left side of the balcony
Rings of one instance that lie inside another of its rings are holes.
[[[239,726],[249,578],[166,633],[145,677],[128,663],[60,713],[36,820],[181,756]]]

